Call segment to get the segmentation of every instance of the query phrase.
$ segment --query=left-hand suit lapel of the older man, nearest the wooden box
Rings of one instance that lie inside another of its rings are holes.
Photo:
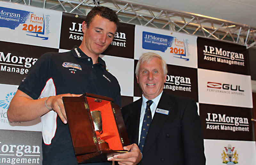
[[[138,145],[139,140],[139,125],[140,125],[140,111],[141,111],[141,104],[142,104],[142,98],[140,98],[138,101],[134,102],[133,107],[130,111],[131,114],[131,126],[130,130],[132,131],[131,134],[131,143],[136,143]]]

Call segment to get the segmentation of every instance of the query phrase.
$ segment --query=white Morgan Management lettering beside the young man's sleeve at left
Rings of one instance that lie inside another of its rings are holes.
[[[37,58],[13,56],[13,55],[11,56],[11,55],[12,53],[7,53],[7,55],[5,56],[4,52],[0,52],[0,64],[1,64],[0,71],[27,74],[28,69],[25,69],[25,68],[30,68],[37,61]],[[8,65],[12,67],[8,67]],[[25,67],[25,68],[22,68],[22,67]]]

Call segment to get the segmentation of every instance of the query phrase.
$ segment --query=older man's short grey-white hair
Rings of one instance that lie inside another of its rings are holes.
[[[159,58],[162,62],[162,68],[163,68],[163,71],[164,71],[164,75],[167,74],[168,70],[167,70],[167,64],[166,62],[163,60],[163,58],[161,56],[159,56],[158,54],[156,53],[153,53],[153,52],[147,52],[147,53],[143,53],[141,56],[140,56],[140,59],[136,65],[136,69],[135,69],[135,74],[136,76],[139,75],[139,67],[140,67],[140,64],[144,63],[144,62],[147,62],[149,63],[153,58]]]

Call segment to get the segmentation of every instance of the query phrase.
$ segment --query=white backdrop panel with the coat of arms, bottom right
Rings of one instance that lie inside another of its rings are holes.
[[[207,165],[256,164],[255,141],[204,139],[204,153]]]

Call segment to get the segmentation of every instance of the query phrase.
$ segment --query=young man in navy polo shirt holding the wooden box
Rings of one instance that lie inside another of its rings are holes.
[[[112,42],[117,28],[114,11],[94,7],[82,24],[81,45],[65,53],[44,54],[20,83],[7,116],[11,122],[31,121],[41,116],[43,164],[77,164],[63,96],[98,94],[113,98],[120,106],[118,81],[106,71],[106,64],[99,57]],[[124,147],[130,148],[131,145]],[[131,152],[114,157],[122,164],[138,164],[141,153],[135,144]],[[109,162],[96,164],[106,163]]]

